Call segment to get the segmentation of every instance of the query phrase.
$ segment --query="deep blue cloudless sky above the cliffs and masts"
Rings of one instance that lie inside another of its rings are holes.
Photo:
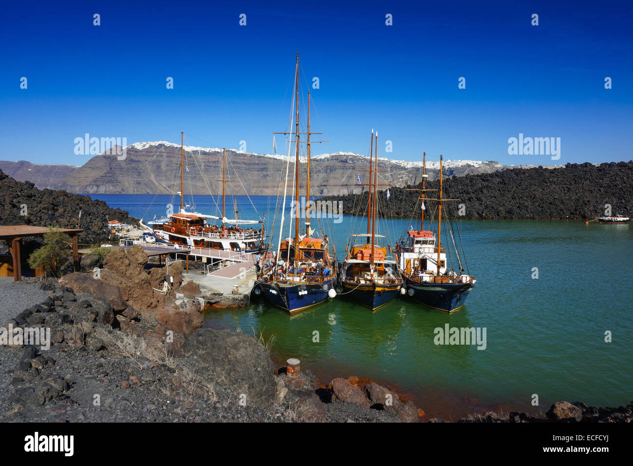
[[[84,133],[129,144],[178,143],[184,131],[190,145],[245,140],[249,152],[271,153],[296,51],[304,79],[320,79],[312,130],[331,141],[313,153],[367,153],[375,128],[379,155],[391,159],[423,150],[503,164],[633,158],[630,3],[266,4],[5,4],[0,160],[81,165],[91,156],[75,155],[73,139]],[[508,155],[519,133],[560,137],[560,160]]]

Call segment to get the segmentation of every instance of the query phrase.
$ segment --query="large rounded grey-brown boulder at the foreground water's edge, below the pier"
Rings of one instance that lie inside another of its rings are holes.
[[[208,384],[221,387],[247,405],[270,406],[277,389],[266,348],[253,337],[231,330],[201,328],[185,339],[181,361]]]

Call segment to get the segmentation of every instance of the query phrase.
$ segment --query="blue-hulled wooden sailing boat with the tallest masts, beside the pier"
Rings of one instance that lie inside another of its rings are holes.
[[[281,240],[284,227],[285,212],[285,188],[284,202],[282,204],[282,219],[279,232],[279,244],[277,256],[272,264],[264,264],[264,268],[258,273],[254,289],[255,293],[263,297],[274,306],[281,307],[291,314],[320,304],[328,297],[335,297],[333,288],[336,276],[335,253],[330,256],[329,245],[325,238],[313,237],[314,231],[310,228],[310,217],[306,215],[306,231],[301,235],[299,229],[299,54],[295,70],[295,104],[296,126],[295,136],[295,161],[294,161],[294,238]],[[292,127],[292,125],[291,125]],[[279,133],[291,134],[292,133]],[[306,153],[308,176],[306,180],[306,197],[310,200],[310,93],[308,93],[308,132],[306,134]],[[325,142],[325,141],[318,141]],[[289,164],[289,160],[288,160]],[[287,172],[286,172],[287,174]],[[287,178],[286,178],[287,183]],[[306,210],[310,206],[306,202]],[[272,259],[270,259],[272,261]]]

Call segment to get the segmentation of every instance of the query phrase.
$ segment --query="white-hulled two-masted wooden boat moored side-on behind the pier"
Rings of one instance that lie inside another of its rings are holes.
[[[154,237],[158,242],[185,245],[218,250],[233,250],[242,252],[261,252],[266,249],[264,244],[265,230],[263,221],[237,219],[237,200],[235,200],[235,219],[225,217],[225,167],[226,150],[222,150],[222,217],[189,212],[184,205],[183,168],[184,163],[184,133],[180,133],[180,210],[170,214],[166,219],[152,221]],[[186,206],[189,207],[189,206]],[[208,219],[222,221],[222,227],[206,223]],[[242,228],[244,225],[261,224],[261,229]]]

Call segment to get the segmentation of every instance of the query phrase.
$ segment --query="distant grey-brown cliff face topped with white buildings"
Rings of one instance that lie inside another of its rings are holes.
[[[166,142],[135,143],[127,146],[125,160],[116,155],[96,155],[81,167],[72,165],[34,165],[30,162],[0,162],[0,169],[18,181],[31,181],[38,188],[72,193],[168,194],[180,190],[180,145]],[[222,149],[185,146],[185,192],[222,192]],[[302,159],[299,169],[305,172]],[[360,192],[357,176],[368,182],[368,157],[354,153],[316,155],[310,160],[314,195],[344,195]],[[427,163],[429,179],[437,176],[437,162]],[[394,186],[417,184],[422,179],[421,162],[378,160],[379,183]],[[497,162],[448,161],[448,175],[491,173],[506,169]],[[227,150],[227,192],[242,195],[277,195],[285,176],[286,162],[280,155]],[[294,172],[294,157],[290,164]],[[291,186],[291,182],[289,182]]]

